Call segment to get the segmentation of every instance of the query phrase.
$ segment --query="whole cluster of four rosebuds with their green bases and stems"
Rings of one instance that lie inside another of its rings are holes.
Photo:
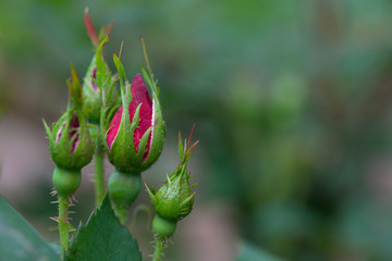
[[[151,73],[144,40],[142,39],[142,44],[147,71],[142,67],[142,72],[133,76],[130,83],[120,60],[120,50],[119,55],[113,54],[118,70],[118,77],[114,79],[102,58],[102,49],[109,41],[112,24],[103,26],[98,35],[86,9],[85,25],[96,54],[84,83],[81,84],[72,65],[72,76],[68,80],[71,97],[68,109],[51,128],[44,122],[51,158],[57,165],[53,185],[59,195],[59,228],[63,253],[69,246],[68,199],[78,188],[81,170],[91,161],[94,153],[96,152],[97,206],[106,191],[106,152],[115,169],[108,181],[109,196],[117,216],[125,224],[130,206],[142,188],[140,174],[160,157],[166,136],[158,82]],[[117,80],[121,92],[119,99],[115,98],[113,87]],[[176,223],[187,216],[193,208],[195,194],[192,192],[189,173],[186,170],[197,145],[195,142],[191,146],[192,133],[184,144],[181,134],[179,135],[180,164],[162,187],[156,191],[154,187],[149,189],[146,186],[157,213],[152,228],[159,238],[173,235]],[[97,194],[98,190],[100,191]]]

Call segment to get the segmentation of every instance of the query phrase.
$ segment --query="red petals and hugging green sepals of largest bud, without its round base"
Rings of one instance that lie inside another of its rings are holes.
[[[107,133],[109,160],[122,173],[140,173],[159,158],[166,135],[156,88],[152,100],[140,74],[122,91],[123,105],[110,122]],[[125,92],[125,94],[124,94]],[[130,101],[130,99],[132,99]]]

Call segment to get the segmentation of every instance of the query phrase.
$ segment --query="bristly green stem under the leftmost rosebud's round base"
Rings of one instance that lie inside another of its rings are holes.
[[[61,253],[64,258],[65,251],[70,247],[70,224],[68,221],[70,201],[68,197],[59,196],[59,231],[60,231],[60,245]]]

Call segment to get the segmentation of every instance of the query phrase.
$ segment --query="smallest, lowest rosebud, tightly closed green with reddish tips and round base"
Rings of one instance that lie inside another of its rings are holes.
[[[179,135],[181,162],[173,174],[167,177],[162,187],[155,191],[154,187],[149,189],[146,186],[157,213],[152,222],[152,228],[163,236],[171,236],[174,233],[176,222],[191,213],[194,203],[195,192],[192,192],[186,165],[198,141],[189,146],[192,134],[187,144],[185,140],[185,147],[183,148],[181,134]]]

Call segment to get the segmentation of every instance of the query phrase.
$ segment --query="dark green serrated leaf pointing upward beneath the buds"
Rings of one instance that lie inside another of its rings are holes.
[[[137,241],[114,216],[107,196],[71,240],[66,261],[142,261]]]

